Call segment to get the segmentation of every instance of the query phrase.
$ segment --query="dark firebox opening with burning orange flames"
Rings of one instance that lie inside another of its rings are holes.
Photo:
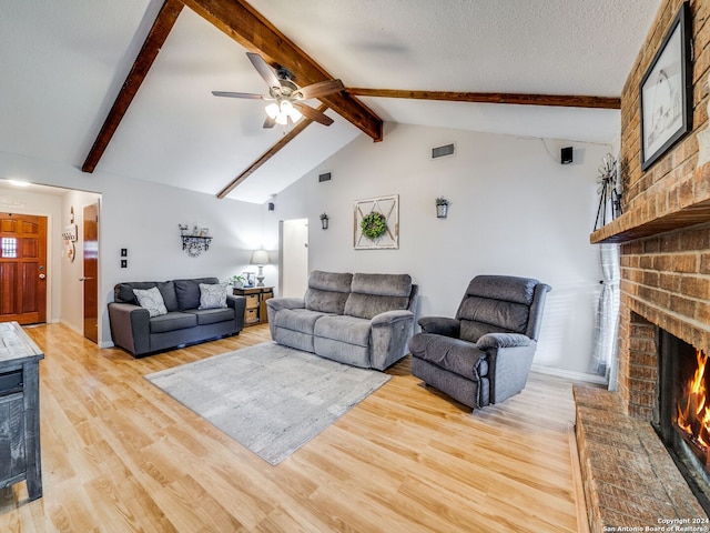
[[[710,362],[708,354],[660,330],[653,426],[710,515]]]

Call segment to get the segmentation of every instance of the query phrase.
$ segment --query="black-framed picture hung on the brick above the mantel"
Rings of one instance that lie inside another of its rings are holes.
[[[641,79],[641,170],[692,129],[691,26],[683,2]]]

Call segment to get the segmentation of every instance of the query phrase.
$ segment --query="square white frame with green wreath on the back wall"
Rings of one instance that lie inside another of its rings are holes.
[[[355,201],[353,210],[355,250],[396,250],[399,248],[399,195]]]

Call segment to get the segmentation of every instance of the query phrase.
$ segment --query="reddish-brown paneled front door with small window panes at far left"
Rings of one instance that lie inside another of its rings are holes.
[[[0,213],[0,322],[47,321],[47,218]]]

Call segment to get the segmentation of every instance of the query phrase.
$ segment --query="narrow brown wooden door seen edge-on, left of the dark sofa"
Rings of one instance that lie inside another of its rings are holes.
[[[99,204],[84,208],[84,336],[99,342]]]

